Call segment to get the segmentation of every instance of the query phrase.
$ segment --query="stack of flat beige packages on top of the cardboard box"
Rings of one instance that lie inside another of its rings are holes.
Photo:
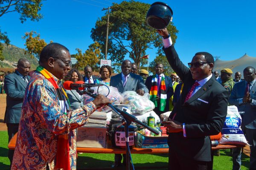
[[[106,127],[107,115],[104,112],[93,112],[84,127]]]

